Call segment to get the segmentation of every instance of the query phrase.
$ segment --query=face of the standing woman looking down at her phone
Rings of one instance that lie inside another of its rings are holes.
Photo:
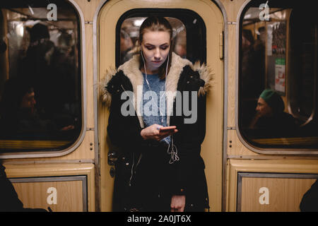
[[[170,34],[165,31],[148,31],[143,34],[141,42],[143,59],[146,61],[146,70],[158,71],[165,62],[170,50]]]

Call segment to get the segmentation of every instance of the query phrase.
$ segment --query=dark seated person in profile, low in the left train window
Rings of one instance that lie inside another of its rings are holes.
[[[1,137],[52,138],[58,131],[73,129],[69,124],[58,128],[56,121],[41,118],[35,104],[32,85],[18,79],[8,80],[1,99]]]

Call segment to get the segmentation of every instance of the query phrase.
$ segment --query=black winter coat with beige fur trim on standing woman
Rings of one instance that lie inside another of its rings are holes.
[[[166,78],[166,100],[167,111],[170,114],[173,112],[170,117],[167,116],[167,125],[177,126],[178,129],[172,141],[177,148],[179,160],[173,164],[169,164],[171,155],[167,153],[167,146],[157,141],[144,141],[141,137],[142,116],[138,116],[135,111],[134,115],[124,117],[121,112],[126,102],[121,99],[122,93],[134,93],[134,106],[138,106],[136,102],[141,100],[136,91],[138,85],[142,87],[143,84],[138,56],[120,66],[117,73],[110,74],[112,76],[105,81],[103,97],[110,106],[107,133],[112,144],[119,148],[115,167],[114,210],[169,211],[173,195],[186,196],[186,210],[209,208],[205,165],[200,155],[206,131],[206,92],[211,85],[211,73],[206,66],[192,65],[187,59],[172,54]],[[183,95],[178,99],[169,95],[168,91],[198,93],[194,97],[190,94],[189,99]],[[181,115],[177,112],[180,100],[182,103],[188,101],[190,107],[192,102],[197,102],[197,117],[192,121],[194,123],[184,121],[194,117],[193,109],[191,116],[184,111]]]

